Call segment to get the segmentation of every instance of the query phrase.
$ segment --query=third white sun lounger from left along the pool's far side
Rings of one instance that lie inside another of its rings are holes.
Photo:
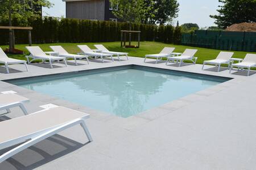
[[[86,59],[87,63],[89,64],[88,56],[86,56],[86,55],[75,55],[75,54],[72,54],[72,53],[68,53],[60,45],[50,46],[50,48],[55,52],[59,52],[60,57],[66,57],[67,59],[74,59],[76,65],[77,65],[77,61],[76,61],[77,59],[80,59],[80,60],[81,59]]]

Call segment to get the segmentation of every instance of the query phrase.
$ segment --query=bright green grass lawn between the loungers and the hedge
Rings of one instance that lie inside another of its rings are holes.
[[[77,53],[80,52],[77,45],[79,44],[86,44],[90,48],[95,49],[93,44],[104,44],[106,48],[108,48],[110,51],[119,51],[119,52],[129,52],[129,56],[135,56],[135,57],[144,57],[146,54],[154,54],[159,53],[163,47],[175,47],[174,52],[183,52],[186,48],[194,48],[198,49],[196,53],[197,63],[203,64],[204,60],[211,60],[215,59],[218,55],[218,53],[221,50],[218,49],[208,49],[208,48],[199,48],[199,47],[189,47],[184,45],[174,45],[174,44],[165,44],[165,43],[158,43],[158,42],[141,42],[141,48],[121,48],[119,42],[108,42],[108,43],[52,43],[52,44],[33,44],[40,46],[43,51],[52,51],[51,48],[49,48],[50,45],[61,45],[63,46],[69,53]],[[134,42],[134,44],[136,44]],[[26,50],[27,44],[17,44],[15,45],[16,49],[21,49],[28,54],[28,51]],[[5,49],[8,47],[7,45],[0,45],[2,49]],[[236,58],[243,58],[245,57],[246,53],[255,53],[255,52],[241,52],[241,51],[234,51],[234,56]],[[14,59],[20,59],[20,60],[26,60],[26,57],[24,55],[9,55],[9,57],[13,57]]]

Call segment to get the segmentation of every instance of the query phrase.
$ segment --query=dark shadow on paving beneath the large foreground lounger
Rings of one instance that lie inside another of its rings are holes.
[[[89,142],[82,144],[56,134],[3,161],[3,163],[0,164],[0,169],[34,169],[76,151],[88,143]],[[0,150],[0,154],[2,155],[14,147],[15,146]]]

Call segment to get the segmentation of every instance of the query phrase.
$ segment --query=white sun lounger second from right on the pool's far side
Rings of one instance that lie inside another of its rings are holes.
[[[230,67],[230,59],[234,55],[233,52],[224,52],[221,51],[216,59],[204,61],[202,69],[204,69],[205,64],[214,64],[216,67],[218,66],[218,72],[220,71],[221,64],[228,64]]]

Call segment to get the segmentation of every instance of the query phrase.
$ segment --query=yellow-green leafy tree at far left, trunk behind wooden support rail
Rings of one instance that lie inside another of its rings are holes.
[[[48,0],[0,0],[0,20],[9,20],[9,26],[13,26],[12,19],[24,21],[41,14],[41,7],[50,7]],[[14,32],[9,31],[9,52],[14,52]]]

